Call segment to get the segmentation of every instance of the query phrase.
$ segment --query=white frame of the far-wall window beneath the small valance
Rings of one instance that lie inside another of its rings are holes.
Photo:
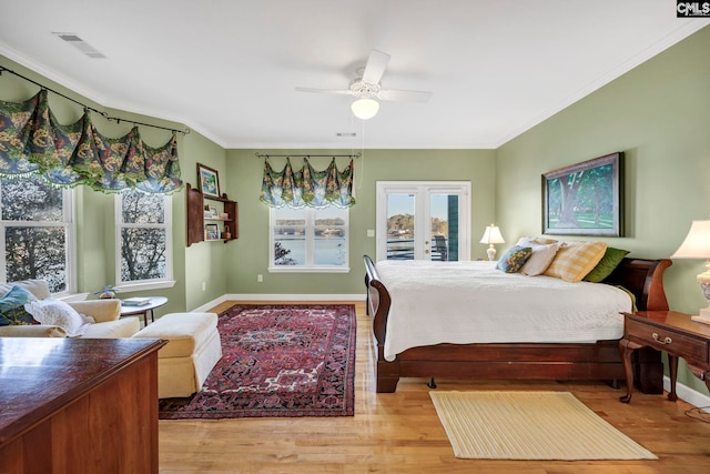
[[[314,252],[315,252],[315,229],[317,228],[315,224],[316,212],[320,210],[318,208],[303,208],[306,212],[306,264],[304,265],[276,265],[274,263],[275,258],[275,243],[276,238],[274,235],[274,220],[275,220],[275,211],[276,208],[268,208],[268,272],[270,273],[349,273],[349,246],[351,246],[351,231],[349,231],[349,208],[337,208],[341,209],[344,215],[345,223],[343,224],[343,230],[345,232],[345,263],[343,265],[316,265],[313,263]],[[308,264],[311,263],[311,264]]]

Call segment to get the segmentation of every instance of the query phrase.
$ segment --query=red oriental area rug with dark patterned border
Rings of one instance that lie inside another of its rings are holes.
[[[222,359],[161,420],[353,416],[355,306],[237,304],[217,320]]]

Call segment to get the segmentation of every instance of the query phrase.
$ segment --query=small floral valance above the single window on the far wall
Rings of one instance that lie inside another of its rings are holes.
[[[261,201],[272,208],[288,205],[291,208],[326,208],[336,205],[349,208],[355,204],[353,196],[353,160],[347,168],[339,171],[335,158],[328,168],[315,171],[307,158],[303,159],[303,168],[295,170],[291,159],[282,171],[274,171],[264,161],[264,179],[262,181]]]

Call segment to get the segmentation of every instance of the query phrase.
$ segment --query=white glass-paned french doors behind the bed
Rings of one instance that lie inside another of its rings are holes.
[[[378,181],[377,260],[470,259],[470,182]]]

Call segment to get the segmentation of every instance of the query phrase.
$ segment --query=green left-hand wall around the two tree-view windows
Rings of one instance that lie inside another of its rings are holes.
[[[121,123],[116,123],[95,113],[92,115],[97,129],[108,137],[120,137],[128,133],[132,127],[129,122],[131,120],[178,130],[184,129],[184,125],[180,123],[101,107],[2,56],[0,56],[0,64],[111,117],[121,118]],[[3,73],[0,77],[0,100],[26,100],[34,95],[38,90],[37,85],[13,74]],[[53,93],[49,94],[49,102],[60,123],[74,122],[83,112],[81,105]],[[149,127],[139,127],[139,130],[141,138],[152,147],[164,144],[171,133]],[[178,151],[183,181],[195,182],[197,161],[210,164],[221,172],[224,171],[224,150],[200,133],[191,131],[186,135],[178,134]],[[77,188],[75,198],[78,291],[94,292],[115,282],[114,200],[112,195],[83,186]],[[220,264],[224,250],[214,244],[210,244],[214,245],[212,248],[200,248],[200,245],[185,248],[184,191],[173,194],[172,205],[173,279],[176,283],[170,289],[150,291],[150,294],[169,297],[169,303],[155,311],[156,315],[197,307],[224,294],[226,290],[226,273],[224,266]],[[205,291],[201,290],[202,281],[205,281]],[[149,292],[141,293],[148,294]],[[121,293],[121,296],[125,297],[133,295],[133,293]]]

